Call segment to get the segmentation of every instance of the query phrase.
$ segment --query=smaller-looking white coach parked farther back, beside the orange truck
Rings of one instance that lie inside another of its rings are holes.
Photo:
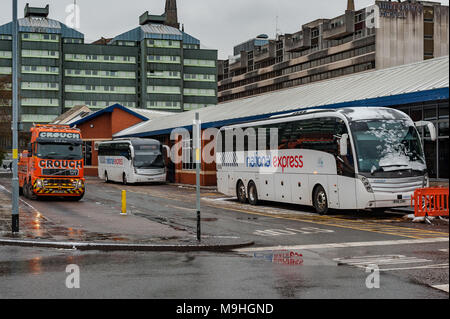
[[[151,139],[118,139],[98,146],[98,176],[123,184],[165,182],[163,145]]]

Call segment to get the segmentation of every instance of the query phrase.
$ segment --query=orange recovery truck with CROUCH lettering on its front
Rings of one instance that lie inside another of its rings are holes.
[[[83,142],[79,129],[68,125],[37,124],[19,160],[19,191],[36,200],[65,197],[73,201],[85,193]]]

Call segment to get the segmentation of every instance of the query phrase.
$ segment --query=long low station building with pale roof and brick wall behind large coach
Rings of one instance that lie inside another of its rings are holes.
[[[449,162],[449,58],[429,59],[412,64],[372,70],[331,80],[288,88],[203,109],[151,119],[114,133],[114,138],[154,138],[173,146],[170,134],[177,128],[192,131],[195,113],[202,130],[268,119],[272,116],[311,109],[357,106],[391,107],[414,121],[431,121],[437,141],[422,131],[426,162],[431,179],[448,182]],[[203,140],[203,146],[209,140]],[[181,163],[175,165],[175,181],[195,184],[195,166],[183,154],[193,154],[192,141],[184,141]],[[201,165],[201,184],[216,185],[215,164]]]

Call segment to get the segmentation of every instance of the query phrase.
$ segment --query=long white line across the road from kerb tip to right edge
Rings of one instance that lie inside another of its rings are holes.
[[[417,245],[417,244],[443,243],[448,241],[449,241],[448,237],[441,237],[441,238],[425,238],[425,239],[400,239],[400,240],[380,240],[380,241],[349,242],[349,243],[240,248],[235,249],[234,251],[245,253],[245,252],[273,251],[273,250],[336,249],[336,248],[393,246],[393,245]]]

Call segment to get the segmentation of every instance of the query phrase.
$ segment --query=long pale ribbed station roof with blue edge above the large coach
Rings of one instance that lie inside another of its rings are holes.
[[[445,56],[177,113],[130,127],[114,137],[150,137],[169,134],[175,128],[191,130],[196,112],[206,129],[305,109],[393,106],[448,99],[448,78],[449,58]]]

